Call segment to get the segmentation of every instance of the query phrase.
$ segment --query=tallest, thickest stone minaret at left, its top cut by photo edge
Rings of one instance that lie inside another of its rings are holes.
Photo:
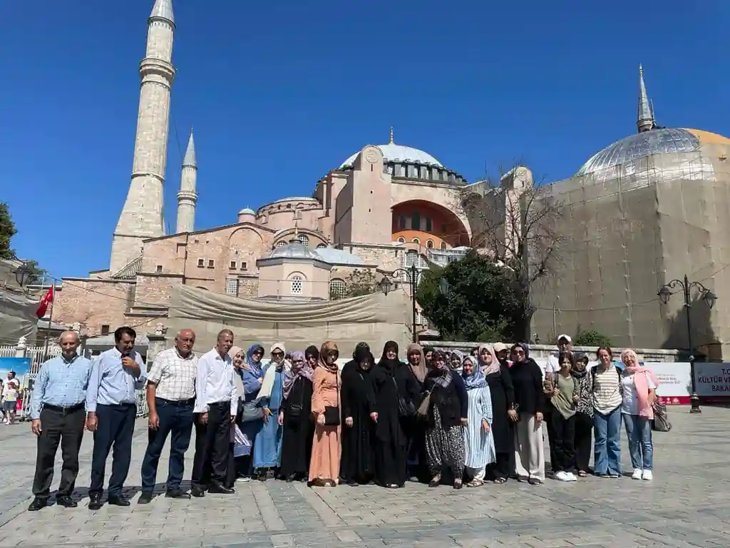
[[[142,240],[164,235],[162,217],[165,160],[169,132],[170,89],[175,77],[172,0],[155,0],[148,21],[147,54],[139,64],[137,137],[132,178],[112,237],[110,271],[115,273],[139,256]]]

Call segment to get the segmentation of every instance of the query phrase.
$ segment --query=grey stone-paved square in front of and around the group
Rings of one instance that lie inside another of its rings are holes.
[[[145,422],[139,422],[130,508],[88,510],[91,435],[82,447],[77,509],[26,511],[35,444],[28,423],[0,426],[0,546],[23,547],[728,547],[730,410],[672,408],[671,433],[655,433],[655,479],[517,482],[455,491],[407,484],[309,489],[237,484],[235,495],[157,497],[137,506]],[[629,469],[624,443],[623,460]],[[192,451],[188,454],[187,475]],[[161,471],[166,461],[161,460]],[[158,479],[164,481],[163,473]],[[56,482],[58,478],[56,479]],[[161,487],[161,485],[159,486]],[[160,489],[161,490],[161,489]]]

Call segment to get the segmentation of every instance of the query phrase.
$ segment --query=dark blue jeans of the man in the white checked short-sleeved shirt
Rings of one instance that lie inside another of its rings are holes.
[[[155,398],[160,425],[157,430],[148,431],[147,451],[142,460],[142,492],[152,493],[157,479],[157,465],[168,435],[170,458],[167,472],[167,490],[180,489],[185,472],[185,452],[190,446],[193,432],[193,403],[195,400],[168,401]]]

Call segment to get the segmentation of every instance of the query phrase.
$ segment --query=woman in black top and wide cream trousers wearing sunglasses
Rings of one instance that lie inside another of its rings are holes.
[[[545,449],[542,438],[542,411],[545,394],[542,369],[530,357],[525,343],[512,345],[512,385],[515,388],[515,473],[518,482],[539,485],[545,482]]]

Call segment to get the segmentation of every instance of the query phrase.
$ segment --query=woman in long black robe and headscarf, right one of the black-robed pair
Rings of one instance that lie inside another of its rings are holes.
[[[370,417],[375,425],[375,473],[382,487],[403,487],[407,479],[408,439],[401,425],[400,401],[413,403],[420,394],[408,365],[398,358],[398,344],[389,340],[371,376]],[[406,418],[406,417],[403,417]]]

